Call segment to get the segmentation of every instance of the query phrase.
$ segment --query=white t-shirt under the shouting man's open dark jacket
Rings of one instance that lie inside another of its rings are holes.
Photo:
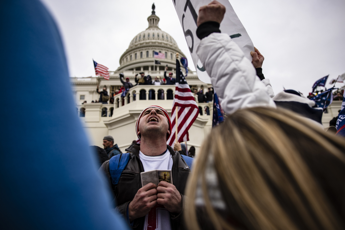
[[[144,166],[144,171],[172,169],[172,158],[168,149],[163,155],[155,157],[146,156],[139,151],[139,158]],[[159,204],[151,208],[145,216],[143,230],[171,230],[169,211]]]

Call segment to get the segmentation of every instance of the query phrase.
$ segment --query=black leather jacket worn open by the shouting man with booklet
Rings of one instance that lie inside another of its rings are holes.
[[[183,207],[185,207],[184,193],[190,169],[188,168],[187,163],[181,157],[179,152],[174,151],[174,149],[172,149],[171,146],[168,145],[167,149],[171,154],[173,162],[171,169],[171,174],[173,178],[172,181],[176,189],[181,193]],[[139,150],[140,144],[132,144],[129,148],[125,150],[131,153],[130,159],[126,168],[124,169],[124,171],[122,171],[117,185],[111,183],[109,160],[104,162],[101,168],[99,169],[100,171],[103,171],[106,174],[111,190],[115,197],[114,203],[117,204],[116,209],[125,217],[125,220],[128,220],[127,208],[129,202],[134,198],[137,191],[142,187],[140,172],[144,172],[144,167],[142,166],[142,163],[139,158]],[[183,224],[181,223],[183,217],[182,212],[170,213],[170,223],[172,230],[185,229]],[[133,229],[142,230],[144,227],[144,220],[145,216],[135,219],[133,223]]]

